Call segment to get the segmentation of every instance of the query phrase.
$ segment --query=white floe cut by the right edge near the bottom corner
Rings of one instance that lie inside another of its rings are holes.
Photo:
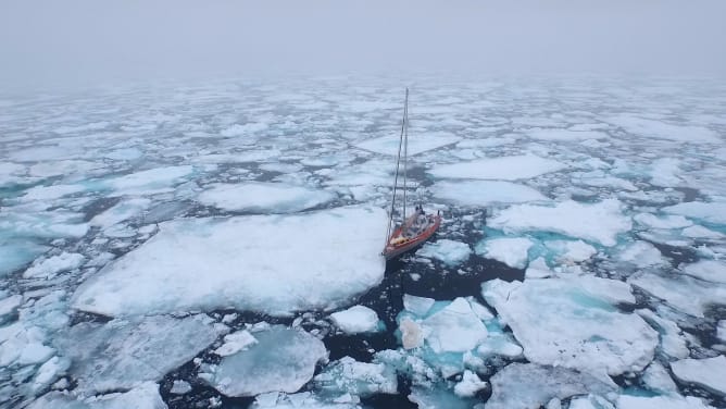
[[[683,382],[693,383],[726,396],[726,357],[681,359],[671,362],[673,374]]]

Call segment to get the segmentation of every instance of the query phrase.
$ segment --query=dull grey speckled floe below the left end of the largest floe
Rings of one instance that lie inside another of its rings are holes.
[[[225,326],[203,314],[155,315],[139,322],[83,322],[61,332],[54,344],[73,362],[71,374],[78,389],[92,394],[160,381],[224,332]]]

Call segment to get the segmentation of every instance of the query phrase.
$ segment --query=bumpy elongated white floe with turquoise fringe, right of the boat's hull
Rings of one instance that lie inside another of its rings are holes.
[[[495,213],[487,225],[504,233],[544,231],[613,246],[616,236],[633,226],[621,207],[615,199],[592,205],[573,200],[554,206],[515,205]]]

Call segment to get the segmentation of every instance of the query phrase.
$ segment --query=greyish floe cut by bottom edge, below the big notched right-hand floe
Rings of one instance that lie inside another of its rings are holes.
[[[614,399],[617,386],[610,382],[563,367],[536,363],[511,363],[490,380],[491,397],[487,409],[533,409],[553,398],[564,399],[598,394]]]

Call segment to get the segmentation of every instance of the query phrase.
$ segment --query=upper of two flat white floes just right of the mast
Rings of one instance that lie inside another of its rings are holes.
[[[499,157],[471,162],[440,164],[428,171],[435,177],[516,181],[558,172],[563,163],[535,154]]]

